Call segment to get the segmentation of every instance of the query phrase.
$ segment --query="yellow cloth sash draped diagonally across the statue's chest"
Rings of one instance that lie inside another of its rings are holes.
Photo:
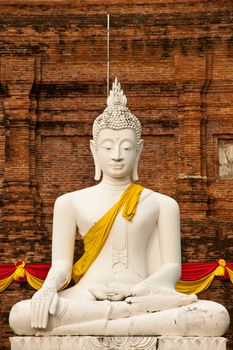
[[[132,220],[144,187],[132,183],[119,201],[84,236],[84,254],[73,266],[73,279],[78,283],[103,248],[114,220],[123,208],[122,216]]]

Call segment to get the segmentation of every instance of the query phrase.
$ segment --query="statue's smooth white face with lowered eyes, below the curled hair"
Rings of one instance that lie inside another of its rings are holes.
[[[97,137],[95,157],[104,176],[114,179],[129,177],[141,152],[132,129],[102,129]]]

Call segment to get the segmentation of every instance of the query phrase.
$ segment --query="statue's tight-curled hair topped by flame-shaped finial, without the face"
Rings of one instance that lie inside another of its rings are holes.
[[[137,137],[137,144],[141,140],[141,123],[135,117],[128,107],[126,107],[127,98],[121,89],[121,84],[115,78],[112,84],[112,90],[107,98],[107,108],[100,114],[93,123],[93,139],[96,144],[97,136],[102,129],[133,129]]]

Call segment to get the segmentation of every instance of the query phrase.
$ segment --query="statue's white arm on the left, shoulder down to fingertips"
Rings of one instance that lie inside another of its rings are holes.
[[[57,291],[69,280],[72,271],[76,224],[69,195],[59,197],[54,206],[52,266],[42,288],[31,302],[31,325],[46,328],[48,315],[55,314]]]

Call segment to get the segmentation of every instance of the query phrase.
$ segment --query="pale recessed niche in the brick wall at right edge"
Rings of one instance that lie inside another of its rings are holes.
[[[219,140],[219,176],[233,179],[233,139]]]

